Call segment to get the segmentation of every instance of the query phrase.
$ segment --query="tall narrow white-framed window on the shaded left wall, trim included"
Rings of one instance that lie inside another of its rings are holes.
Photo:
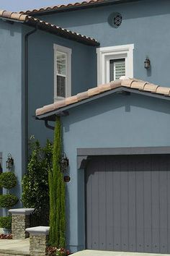
[[[71,96],[71,49],[54,45],[54,101]]]

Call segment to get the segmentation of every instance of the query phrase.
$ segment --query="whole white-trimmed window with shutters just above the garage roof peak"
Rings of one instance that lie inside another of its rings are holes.
[[[98,85],[122,76],[133,77],[133,49],[133,44],[97,48]]]

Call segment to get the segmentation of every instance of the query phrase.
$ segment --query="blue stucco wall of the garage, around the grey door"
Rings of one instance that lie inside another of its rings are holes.
[[[84,170],[77,148],[124,148],[170,145],[170,102],[144,95],[109,95],[69,111],[63,117],[63,144],[69,158],[67,184],[68,245],[84,248]]]

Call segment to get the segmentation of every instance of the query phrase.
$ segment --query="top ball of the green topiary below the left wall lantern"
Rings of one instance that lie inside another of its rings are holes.
[[[17,185],[17,177],[12,171],[7,171],[0,174],[0,187],[4,189],[12,189]]]

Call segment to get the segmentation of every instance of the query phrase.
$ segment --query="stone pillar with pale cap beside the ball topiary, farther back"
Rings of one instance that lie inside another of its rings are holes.
[[[30,213],[34,208],[11,209],[12,214],[12,239],[25,239],[29,234],[25,229],[30,228]]]

